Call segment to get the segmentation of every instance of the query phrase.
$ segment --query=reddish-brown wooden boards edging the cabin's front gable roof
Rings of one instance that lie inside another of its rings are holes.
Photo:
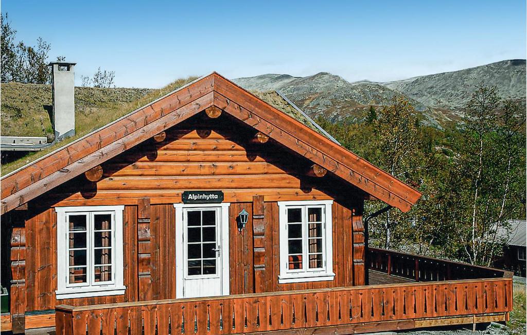
[[[214,72],[1,179],[1,213],[15,209],[215,105],[345,181],[408,211],[421,193]]]

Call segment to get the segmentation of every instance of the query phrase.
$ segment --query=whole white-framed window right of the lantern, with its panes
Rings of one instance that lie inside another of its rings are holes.
[[[333,200],[278,202],[278,283],[333,280],[332,204]]]

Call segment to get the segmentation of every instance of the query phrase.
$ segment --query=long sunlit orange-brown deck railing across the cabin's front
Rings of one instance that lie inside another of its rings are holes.
[[[60,305],[56,307],[56,333],[252,333],[503,315],[511,309],[511,279],[405,283],[83,307]]]

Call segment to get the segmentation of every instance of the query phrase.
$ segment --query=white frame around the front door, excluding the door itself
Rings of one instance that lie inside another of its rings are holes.
[[[230,202],[183,204],[174,203],[175,208],[175,298],[183,298],[184,264],[183,264],[183,209],[217,208],[220,210],[218,222],[221,234],[220,268],[221,268],[221,293],[230,294],[230,267],[229,267],[229,206]]]

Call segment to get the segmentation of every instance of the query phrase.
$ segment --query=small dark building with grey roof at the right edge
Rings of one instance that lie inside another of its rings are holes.
[[[494,261],[494,266],[513,271],[515,275],[525,277],[525,220],[509,220],[505,228],[498,231],[498,237],[505,240],[503,257]]]

